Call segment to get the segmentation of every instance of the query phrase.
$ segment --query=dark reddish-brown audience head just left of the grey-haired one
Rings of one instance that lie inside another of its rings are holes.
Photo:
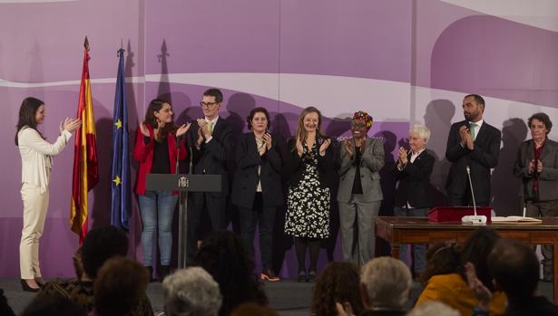
[[[103,264],[93,285],[95,311],[102,316],[131,315],[149,283],[141,263],[114,257]]]

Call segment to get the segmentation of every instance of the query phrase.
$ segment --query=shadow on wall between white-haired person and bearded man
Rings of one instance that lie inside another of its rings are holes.
[[[425,125],[430,129],[430,140],[426,145],[430,154],[436,158],[430,183],[430,200],[435,206],[447,206],[449,202],[445,196],[445,178],[449,173],[450,162],[445,158],[447,135],[451,127],[451,120],[455,115],[455,105],[449,100],[433,100],[426,105],[424,116]]]

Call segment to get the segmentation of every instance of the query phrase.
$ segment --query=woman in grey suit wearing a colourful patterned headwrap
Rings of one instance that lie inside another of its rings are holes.
[[[374,255],[374,224],[382,203],[379,169],[384,167],[384,145],[380,139],[367,137],[372,117],[355,112],[351,120],[352,138],[340,146],[339,222],[343,260],[360,265]],[[355,216],[358,237],[354,238]]]

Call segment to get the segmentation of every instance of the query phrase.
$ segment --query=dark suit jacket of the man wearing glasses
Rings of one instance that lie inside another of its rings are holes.
[[[191,133],[189,139],[193,139],[193,141],[198,139],[198,129],[200,129],[198,123],[193,122],[189,131]],[[226,120],[219,118],[213,127],[211,136],[212,139],[208,143],[205,140],[201,142],[199,149],[191,146],[193,173],[196,175],[221,175],[221,192],[210,193],[210,195],[228,196],[231,150],[234,146],[232,128]]]

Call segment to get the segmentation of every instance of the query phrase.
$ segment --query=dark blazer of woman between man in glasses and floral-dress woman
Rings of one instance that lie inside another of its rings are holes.
[[[253,132],[243,134],[236,145],[237,169],[234,174],[231,202],[236,206],[252,208],[258,180],[261,181],[263,206],[283,204],[281,171],[285,140],[271,134],[271,148],[259,156]],[[258,167],[261,167],[258,175]]]

